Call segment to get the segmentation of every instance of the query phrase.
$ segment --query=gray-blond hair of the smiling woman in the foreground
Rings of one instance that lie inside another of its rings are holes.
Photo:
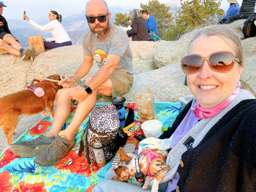
[[[239,65],[244,64],[243,48],[242,48],[242,44],[241,44],[241,39],[238,37],[238,35],[236,33],[234,33],[234,31],[232,31],[225,25],[213,25],[213,26],[203,28],[201,31],[199,31],[194,36],[194,38],[190,42],[190,45],[198,37],[201,37],[201,36],[209,37],[212,35],[219,36],[223,40],[225,40],[229,44],[229,46],[233,49],[234,54],[240,60]],[[256,97],[256,94],[253,91],[253,89],[250,88],[250,86],[243,81],[243,76],[244,75],[242,72],[241,73],[241,88],[250,91]]]

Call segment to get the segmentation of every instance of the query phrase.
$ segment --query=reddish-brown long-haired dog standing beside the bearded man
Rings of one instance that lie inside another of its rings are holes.
[[[60,80],[60,75],[54,74],[47,78]],[[34,115],[42,112],[44,117],[48,117],[46,113],[46,108],[48,108],[50,116],[53,118],[54,100],[56,92],[61,86],[58,85],[58,82],[44,80],[37,83],[36,87],[44,90],[43,98],[37,97],[27,89],[0,98],[0,127],[3,129],[8,145],[11,144],[11,135],[18,124],[20,115]]]

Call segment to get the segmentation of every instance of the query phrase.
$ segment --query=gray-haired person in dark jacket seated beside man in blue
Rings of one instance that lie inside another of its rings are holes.
[[[130,41],[148,41],[148,31],[147,24],[145,19],[143,19],[140,15],[138,9],[134,9],[131,11],[131,20],[132,24],[131,30],[126,30],[125,32],[129,35]]]

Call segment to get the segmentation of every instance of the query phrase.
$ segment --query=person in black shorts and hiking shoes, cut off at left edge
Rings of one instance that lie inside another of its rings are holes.
[[[0,1],[0,49],[7,51],[12,55],[21,57],[23,61],[28,60],[29,57],[31,56],[31,61],[33,61],[35,57],[35,48],[31,47],[31,52],[30,49],[24,50],[21,47],[21,45],[19,44],[19,39],[17,39],[11,34],[7,21],[2,16],[3,7],[7,6],[3,4],[3,1]]]

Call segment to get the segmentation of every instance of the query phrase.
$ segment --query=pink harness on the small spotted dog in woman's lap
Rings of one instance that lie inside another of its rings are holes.
[[[155,177],[156,174],[152,171],[152,165],[155,161],[160,160],[164,162],[164,159],[161,155],[157,154],[156,152],[153,152],[152,149],[146,148],[143,150],[143,152],[140,153],[140,155],[146,155],[147,158],[147,170],[146,175],[150,177]]]

